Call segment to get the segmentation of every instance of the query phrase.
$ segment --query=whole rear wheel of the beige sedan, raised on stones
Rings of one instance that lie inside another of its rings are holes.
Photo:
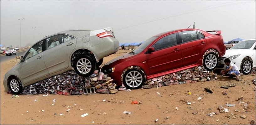
[[[77,56],[74,60],[74,70],[82,77],[88,77],[95,70],[95,62],[88,55]]]

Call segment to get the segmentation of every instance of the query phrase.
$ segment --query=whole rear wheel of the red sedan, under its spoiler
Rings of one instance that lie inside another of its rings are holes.
[[[205,55],[205,57],[204,57],[205,69],[207,69],[208,71],[211,71],[216,68],[217,63],[218,63],[218,58],[215,53],[211,52],[211,53],[208,53],[207,55]]]

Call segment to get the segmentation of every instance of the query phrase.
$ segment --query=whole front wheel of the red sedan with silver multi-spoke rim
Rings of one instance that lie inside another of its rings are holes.
[[[144,73],[138,69],[129,69],[125,72],[123,77],[123,83],[126,88],[138,89],[144,84]]]

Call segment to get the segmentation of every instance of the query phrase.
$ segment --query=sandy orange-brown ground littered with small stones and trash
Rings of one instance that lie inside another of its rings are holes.
[[[117,54],[104,58],[103,63],[127,52],[129,51],[120,50]],[[46,97],[39,94],[12,98],[11,94],[4,92],[3,76],[17,62],[18,60],[1,62],[1,124],[249,124],[251,120],[255,121],[255,85],[252,84],[255,74],[242,76],[241,82],[218,76],[215,81],[137,89],[131,92],[119,91],[116,94],[49,94]],[[221,85],[230,84],[236,86],[220,88]],[[211,88],[213,93],[206,93],[205,87]],[[222,95],[222,91],[227,92],[227,95]],[[188,96],[188,92],[192,93],[191,96]],[[243,104],[235,101],[241,95],[243,102],[249,102],[247,110],[243,109]],[[197,100],[199,97],[202,97],[200,101]],[[55,105],[51,105],[53,99],[56,100]],[[107,101],[103,102],[104,99]],[[192,104],[187,105],[180,99],[188,100]],[[134,100],[141,101],[142,104],[131,104]],[[236,106],[226,107],[224,104],[227,102]],[[211,112],[219,112],[217,108],[220,105],[230,109],[230,112],[207,116]],[[68,106],[71,107],[67,108]],[[66,112],[67,109],[71,110]],[[239,112],[235,112],[236,109]],[[122,114],[124,111],[131,114]],[[192,114],[195,111],[197,114]],[[61,113],[64,115],[59,115]],[[88,113],[88,116],[81,117],[84,113]],[[246,118],[239,118],[240,115],[245,115]],[[238,118],[230,119],[233,116]],[[165,119],[166,117],[170,118]],[[157,123],[154,122],[156,119]]]

